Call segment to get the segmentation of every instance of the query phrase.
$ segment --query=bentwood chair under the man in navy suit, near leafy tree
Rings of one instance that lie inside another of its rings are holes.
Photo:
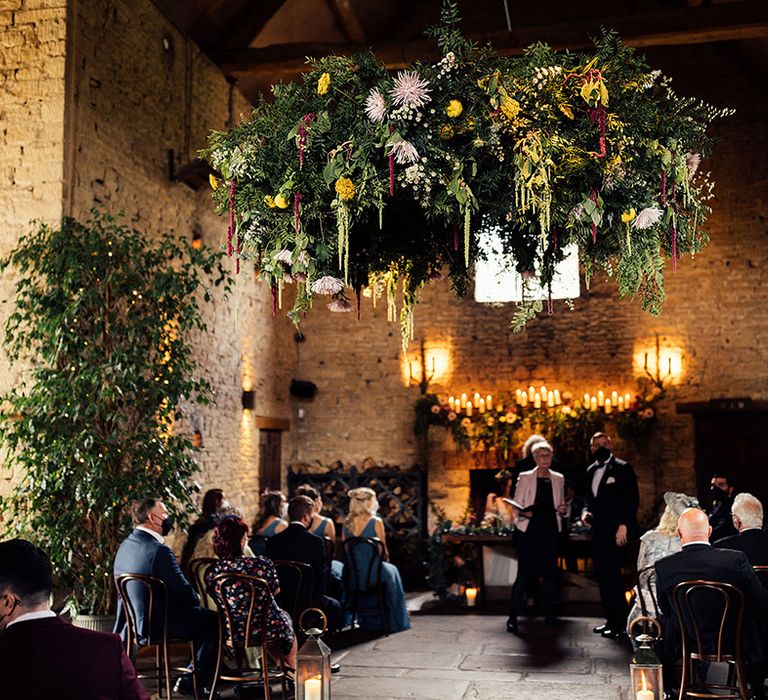
[[[125,611],[125,649],[136,668],[136,675],[140,679],[154,679],[158,697],[162,695],[162,688],[165,688],[165,697],[170,700],[171,675],[190,672],[186,666],[171,666],[171,645],[188,645],[192,656],[192,685],[195,699],[198,700],[195,645],[191,640],[174,640],[168,635],[170,596],[165,582],[144,574],[122,574],[115,578],[115,584]],[[139,667],[138,657],[142,649],[154,649],[154,663],[150,673]]]

